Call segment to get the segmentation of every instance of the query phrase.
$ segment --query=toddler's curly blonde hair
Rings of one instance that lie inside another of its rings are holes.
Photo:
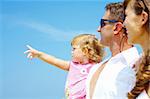
[[[92,34],[81,34],[73,38],[71,46],[77,45],[89,58],[89,61],[99,63],[104,54],[104,46]]]

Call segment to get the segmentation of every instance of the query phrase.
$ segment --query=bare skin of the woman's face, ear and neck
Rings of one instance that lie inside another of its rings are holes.
[[[127,28],[128,41],[132,44],[140,44],[144,52],[148,49],[148,33],[143,25],[147,21],[147,13],[144,11],[140,15],[136,15],[133,8],[134,0],[130,1],[126,10],[126,19],[124,25]]]

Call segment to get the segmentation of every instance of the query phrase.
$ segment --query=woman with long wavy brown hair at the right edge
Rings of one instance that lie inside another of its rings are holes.
[[[124,6],[128,40],[130,43],[140,44],[144,51],[143,61],[136,75],[136,85],[128,93],[128,98],[135,99],[141,93],[147,93],[144,96],[150,98],[150,0],[125,0]]]

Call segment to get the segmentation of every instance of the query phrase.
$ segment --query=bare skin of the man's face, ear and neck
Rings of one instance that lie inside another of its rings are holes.
[[[110,19],[110,11],[106,11],[103,19]],[[121,50],[126,50],[131,47],[131,45],[127,42],[127,37],[124,37],[123,48],[120,46],[120,42],[123,37],[123,33],[121,33],[123,24],[121,22],[117,22],[114,24],[106,23],[104,27],[99,26],[98,32],[101,35],[101,43],[105,46],[108,46],[112,52],[112,56],[120,53]]]

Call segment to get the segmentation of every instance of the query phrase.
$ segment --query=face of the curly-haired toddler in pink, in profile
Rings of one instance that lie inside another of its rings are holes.
[[[89,62],[89,59],[87,58],[86,54],[82,51],[82,49],[79,46],[72,46],[72,61],[86,64]]]

